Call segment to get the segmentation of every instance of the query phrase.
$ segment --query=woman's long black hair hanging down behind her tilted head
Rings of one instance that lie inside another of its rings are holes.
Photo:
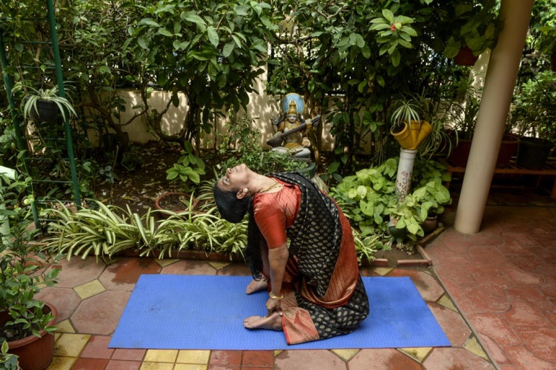
[[[245,260],[255,280],[261,279],[262,257],[261,243],[264,243],[261,230],[255,222],[253,214],[253,197],[236,197],[237,190],[222,190],[214,185],[214,200],[222,218],[237,224],[244,219],[249,212],[249,224],[247,224],[247,246],[245,248]]]

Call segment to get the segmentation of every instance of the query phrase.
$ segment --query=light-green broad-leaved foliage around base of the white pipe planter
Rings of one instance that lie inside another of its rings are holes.
[[[446,167],[434,161],[415,162],[413,184],[415,190],[398,201],[395,177],[398,159],[388,159],[378,167],[371,167],[346,176],[331,188],[331,195],[345,215],[358,226],[361,235],[384,234],[388,221],[395,216],[396,228],[407,228],[409,237],[423,236],[420,223],[426,214],[443,213],[443,205],[450,204],[450,193],[442,185],[448,180]],[[417,187],[419,186],[419,187]]]

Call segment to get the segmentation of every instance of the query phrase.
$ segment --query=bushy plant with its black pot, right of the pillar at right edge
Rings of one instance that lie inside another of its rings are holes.
[[[514,96],[512,120],[517,122],[519,139],[517,164],[541,169],[556,142],[556,76],[538,73],[525,82]]]

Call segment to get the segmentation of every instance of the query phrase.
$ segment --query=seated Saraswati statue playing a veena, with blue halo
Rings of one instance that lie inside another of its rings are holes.
[[[303,99],[296,93],[289,93],[284,97],[282,100],[284,114],[272,120],[272,127],[276,134],[266,142],[272,147],[272,151],[289,155],[297,160],[311,159],[309,149],[311,142],[307,134],[312,127],[320,124],[320,115],[304,121],[301,115],[304,107]]]

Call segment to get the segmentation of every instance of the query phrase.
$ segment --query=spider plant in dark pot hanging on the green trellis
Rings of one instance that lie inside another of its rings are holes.
[[[14,86],[13,91],[23,90],[23,100],[21,102],[21,110],[24,119],[30,119],[35,122],[52,122],[62,114],[62,118],[66,120],[66,115],[76,115],[71,102],[66,98],[58,95],[58,86],[52,88],[33,88],[31,86],[18,83]]]

